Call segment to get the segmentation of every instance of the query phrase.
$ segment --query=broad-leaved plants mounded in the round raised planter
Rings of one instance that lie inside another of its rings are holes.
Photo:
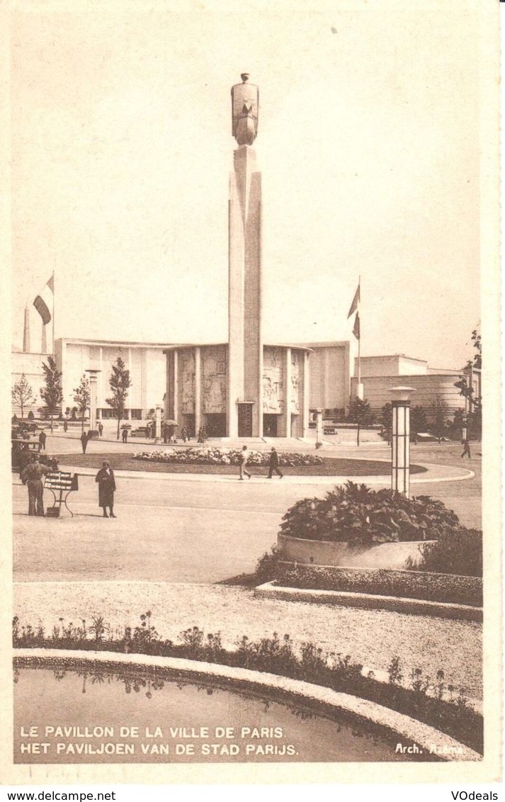
[[[324,498],[305,498],[282,518],[281,533],[306,540],[374,545],[436,540],[459,532],[458,516],[430,496],[412,499],[393,490],[370,490],[348,481]]]

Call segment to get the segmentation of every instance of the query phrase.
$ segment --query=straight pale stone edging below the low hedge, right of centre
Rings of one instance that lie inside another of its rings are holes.
[[[435,615],[437,618],[452,618],[456,621],[483,622],[483,608],[449,602],[428,602],[397,596],[379,596],[372,593],[350,593],[345,590],[309,590],[287,588],[275,581],[257,585],[255,596],[285,599],[291,602],[333,604],[344,607],[365,607],[367,610],[390,610],[394,613],[413,615]]]

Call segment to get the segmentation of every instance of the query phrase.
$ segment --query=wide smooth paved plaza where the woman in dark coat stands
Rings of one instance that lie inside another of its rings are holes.
[[[281,448],[281,447],[280,447]],[[49,438],[47,452],[80,450],[77,439]],[[131,444],[92,441],[90,452],[129,451]],[[328,447],[334,456],[385,460],[386,445],[365,448]],[[413,477],[414,495],[442,499],[464,525],[480,528],[480,460],[462,466],[460,448],[419,448],[413,460],[434,464],[433,471]],[[444,466],[442,468],[440,466]],[[459,481],[426,480],[464,476]],[[447,468],[445,468],[447,466]],[[71,468],[71,466],[68,466]],[[114,467],[114,466],[113,466]],[[385,462],[385,475],[389,465]],[[251,573],[258,557],[277,541],[281,518],[305,496],[322,496],[333,485],[330,477],[285,476],[268,480],[265,469],[252,468],[252,480],[236,476],[116,473],[114,519],[103,519],[98,506],[95,470],[76,468],[79,492],[69,499],[74,517],[63,508],[59,519],[27,516],[26,488],[14,476],[14,577],[17,581],[140,580],[216,582]],[[370,477],[371,479],[372,477]],[[341,478],[340,480],[345,480]],[[358,477],[357,482],[366,480]],[[388,486],[373,477],[374,486]],[[370,484],[370,480],[367,481]],[[52,496],[46,491],[46,504]]]

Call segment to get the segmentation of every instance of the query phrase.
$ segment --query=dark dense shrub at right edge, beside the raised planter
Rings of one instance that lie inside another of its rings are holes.
[[[411,571],[458,573],[463,577],[483,575],[483,533],[479,529],[443,532],[436,543],[423,543],[421,558],[407,560]]]

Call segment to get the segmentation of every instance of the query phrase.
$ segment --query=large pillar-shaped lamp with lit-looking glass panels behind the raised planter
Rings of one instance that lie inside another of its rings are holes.
[[[414,387],[391,387],[391,488],[410,496],[410,394]]]

